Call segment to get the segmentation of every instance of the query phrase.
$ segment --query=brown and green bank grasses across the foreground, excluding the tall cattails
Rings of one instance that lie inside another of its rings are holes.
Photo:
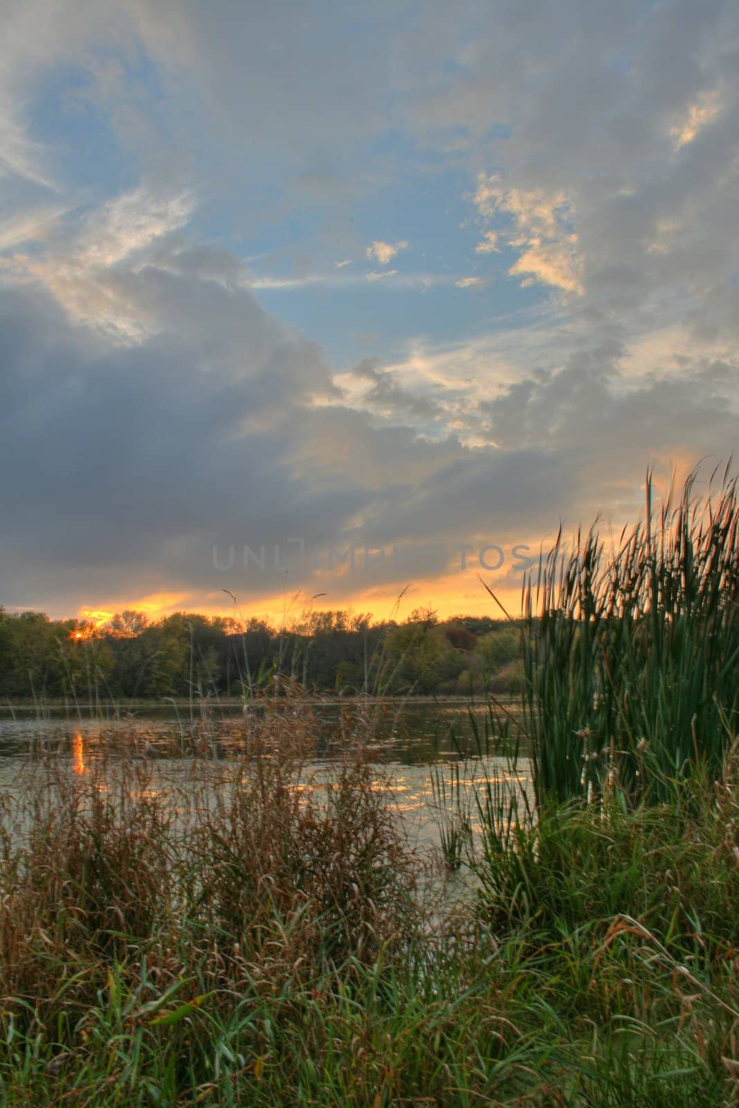
[[[240,726],[238,760],[60,749],[4,798],[0,1105],[728,1101],[736,767],[636,812],[455,771],[480,891],[445,913],[354,716],[320,777],[299,690]]]

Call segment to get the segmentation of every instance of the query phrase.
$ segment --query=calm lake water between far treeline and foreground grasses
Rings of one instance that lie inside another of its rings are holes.
[[[258,718],[273,711],[290,714],[289,701],[263,702],[252,711]],[[320,702],[302,701],[315,725],[315,742],[305,766],[311,788],[322,788],[331,767],[360,730],[367,756],[376,769],[377,787],[403,818],[412,843],[434,848],[439,828],[459,804],[479,830],[471,790],[495,782],[499,788],[520,782],[531,796],[530,765],[525,757],[511,765],[510,749],[499,749],[499,730],[488,707],[469,700]],[[138,706],[131,712],[92,716],[90,708],[0,708],[0,790],[20,794],[29,773],[50,762],[72,779],[92,780],[111,759],[134,757],[147,765],[153,787],[181,790],[192,767],[208,766],[217,787],[217,767],[227,767],[243,749],[248,720],[240,704],[208,705],[163,702]],[[121,718],[117,718],[117,717]],[[498,733],[497,733],[498,732]],[[337,741],[337,736],[343,738]]]

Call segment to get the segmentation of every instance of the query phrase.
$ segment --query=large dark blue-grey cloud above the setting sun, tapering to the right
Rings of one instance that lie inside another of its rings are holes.
[[[451,541],[485,530],[491,493],[509,533],[554,502],[558,466],[534,484],[535,448],[517,470],[496,448],[464,447],[448,396],[375,362],[356,368],[352,411],[314,343],[214,279],[225,259],[181,240],[144,252],[112,267],[132,318],[146,310],[152,324],[136,342],[81,325],[53,285],[0,294],[7,604],[111,611],[122,581],[128,598],[197,605],[226,584],[257,603],[274,574],[225,575],[214,545]],[[106,286],[111,271],[94,279]],[[291,586],[310,584],[310,566],[295,574]]]

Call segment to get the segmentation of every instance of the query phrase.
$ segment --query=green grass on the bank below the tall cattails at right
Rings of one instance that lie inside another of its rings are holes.
[[[574,1046],[562,1104],[739,1096],[736,753],[712,789],[675,781],[659,806],[552,804],[486,823],[479,911],[516,936],[535,1003]]]

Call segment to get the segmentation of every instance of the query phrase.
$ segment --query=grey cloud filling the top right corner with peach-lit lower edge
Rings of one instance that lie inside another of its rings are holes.
[[[466,142],[478,217],[495,220],[499,245],[528,254],[531,271],[514,276],[554,280],[571,297],[583,289],[608,327],[641,329],[645,312],[665,311],[668,289],[676,314],[691,295],[706,311],[736,269],[736,6],[565,0],[556,16],[468,12],[452,72],[443,59],[458,23],[437,16],[423,47],[408,45],[404,119],[437,156],[450,134]],[[489,189],[478,187],[481,165]],[[537,198],[544,208],[517,246],[520,205],[507,213],[500,202],[520,197],[529,214]],[[650,250],[667,225],[667,248]]]

